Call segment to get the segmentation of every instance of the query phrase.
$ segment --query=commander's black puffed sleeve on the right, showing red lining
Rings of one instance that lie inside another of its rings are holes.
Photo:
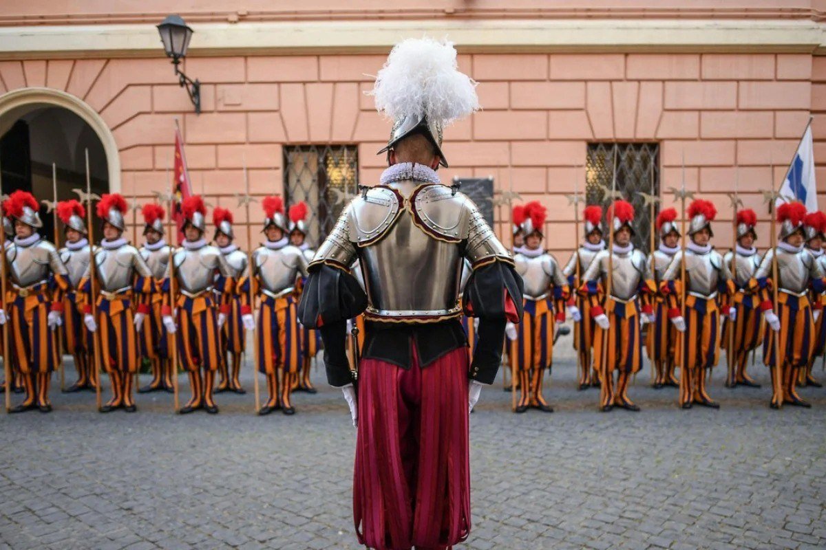
[[[505,325],[522,319],[522,291],[522,277],[502,261],[479,267],[470,275],[464,310],[468,317],[479,317],[470,378],[487,384],[496,378],[505,346]]]

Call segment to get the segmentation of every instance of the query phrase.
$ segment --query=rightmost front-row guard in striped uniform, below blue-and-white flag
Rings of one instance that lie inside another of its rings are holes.
[[[763,317],[771,328],[766,331],[763,341],[763,361],[771,369],[773,392],[769,404],[773,409],[784,403],[811,407],[797,394],[795,385],[814,350],[814,317],[809,291],[824,292],[826,281],[819,262],[814,261],[803,246],[805,215],[806,207],[800,203],[781,204],[777,208],[780,242],[766,252],[750,282],[753,289],[760,291]],[[777,285],[778,293],[777,303],[772,303],[771,277],[775,258],[778,280],[773,283]],[[775,350],[774,332],[779,333],[779,354]],[[778,366],[781,369],[779,382],[775,376]]]

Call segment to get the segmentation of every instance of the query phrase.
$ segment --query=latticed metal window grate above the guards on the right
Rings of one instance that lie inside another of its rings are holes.
[[[659,143],[589,143],[586,159],[586,203],[607,207],[616,161],[616,190],[634,205],[634,246],[648,252],[651,206],[645,195],[659,196]],[[653,191],[652,191],[653,176]],[[659,205],[655,204],[655,212]]]

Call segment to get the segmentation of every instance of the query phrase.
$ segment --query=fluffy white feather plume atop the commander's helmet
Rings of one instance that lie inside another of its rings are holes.
[[[425,115],[447,125],[479,108],[476,85],[458,70],[452,42],[411,38],[393,47],[369,93],[392,120]]]

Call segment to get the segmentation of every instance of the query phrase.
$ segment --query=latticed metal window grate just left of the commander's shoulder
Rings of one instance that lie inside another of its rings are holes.
[[[355,145],[296,145],[284,148],[287,204],[303,200],[310,210],[307,242],[312,247],[330,233],[341,210],[358,192]]]

